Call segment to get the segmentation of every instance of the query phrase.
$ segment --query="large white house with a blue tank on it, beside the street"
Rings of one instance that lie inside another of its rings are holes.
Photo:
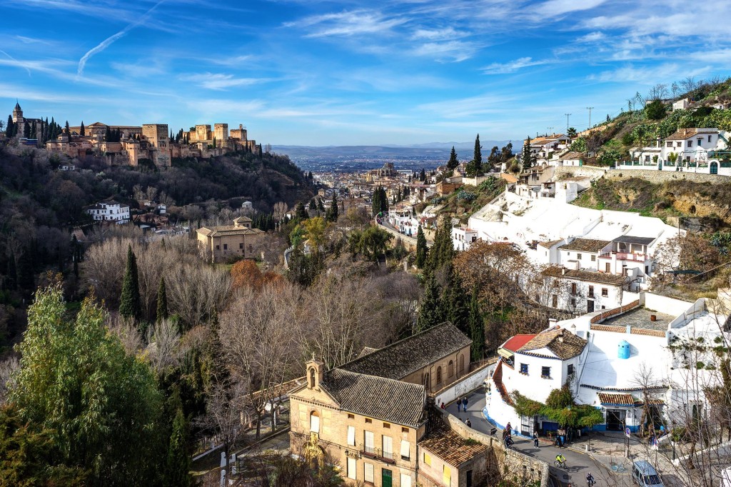
[[[719,290],[719,296],[727,292]],[[513,336],[500,346],[499,363],[486,381],[485,416],[500,427],[510,422],[521,434],[553,431],[558,424],[548,418],[519,417],[512,394],[545,403],[569,377],[576,403],[602,411],[604,423],[595,431],[636,431],[643,412],[656,428],[683,424],[684,415],[708,415],[704,390],[721,381],[722,356],[714,347],[731,339],[724,331],[724,301],[689,303],[643,292],[624,306]]]

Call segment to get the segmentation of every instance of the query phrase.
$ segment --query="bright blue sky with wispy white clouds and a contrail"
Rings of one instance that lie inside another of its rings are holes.
[[[261,143],[521,139],[730,74],[731,1],[0,0],[0,106]],[[0,114],[3,113],[0,110]]]

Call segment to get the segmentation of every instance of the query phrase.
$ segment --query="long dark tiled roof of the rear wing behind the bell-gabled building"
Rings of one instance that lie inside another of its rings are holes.
[[[356,358],[339,369],[401,380],[430,363],[461,350],[471,339],[450,322],[396,341],[376,352]]]

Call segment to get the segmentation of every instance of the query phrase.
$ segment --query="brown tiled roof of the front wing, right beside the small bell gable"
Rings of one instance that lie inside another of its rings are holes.
[[[420,384],[332,369],[320,385],[346,411],[412,428],[426,418],[426,393]]]

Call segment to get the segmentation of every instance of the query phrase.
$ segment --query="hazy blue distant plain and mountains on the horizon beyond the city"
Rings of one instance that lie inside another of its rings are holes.
[[[493,146],[501,148],[508,140],[481,140],[482,156]],[[287,154],[303,170],[368,170],[393,162],[396,169],[420,170],[447,162],[454,146],[460,160],[472,158],[474,142],[432,142],[411,146],[272,146],[277,154]]]

